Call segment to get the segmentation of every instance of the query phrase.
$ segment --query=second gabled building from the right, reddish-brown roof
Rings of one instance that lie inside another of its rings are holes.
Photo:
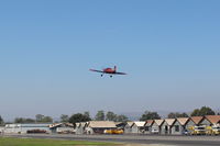
[[[199,126],[200,122],[204,120],[204,116],[191,116],[186,123],[186,130],[191,131],[191,127]]]

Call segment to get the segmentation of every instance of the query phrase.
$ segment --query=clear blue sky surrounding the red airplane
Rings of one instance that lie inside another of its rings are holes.
[[[0,115],[220,109],[220,1],[0,2]],[[128,76],[89,68],[117,65]]]

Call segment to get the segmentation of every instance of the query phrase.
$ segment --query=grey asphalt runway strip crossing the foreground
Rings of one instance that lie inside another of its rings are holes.
[[[68,141],[105,141],[134,144],[161,144],[175,146],[220,146],[220,136],[162,136],[162,135],[65,135],[19,134],[10,137],[54,138]]]

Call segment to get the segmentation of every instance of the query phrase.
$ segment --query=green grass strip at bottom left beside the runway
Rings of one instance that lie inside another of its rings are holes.
[[[112,146],[114,143],[0,137],[0,146]]]

